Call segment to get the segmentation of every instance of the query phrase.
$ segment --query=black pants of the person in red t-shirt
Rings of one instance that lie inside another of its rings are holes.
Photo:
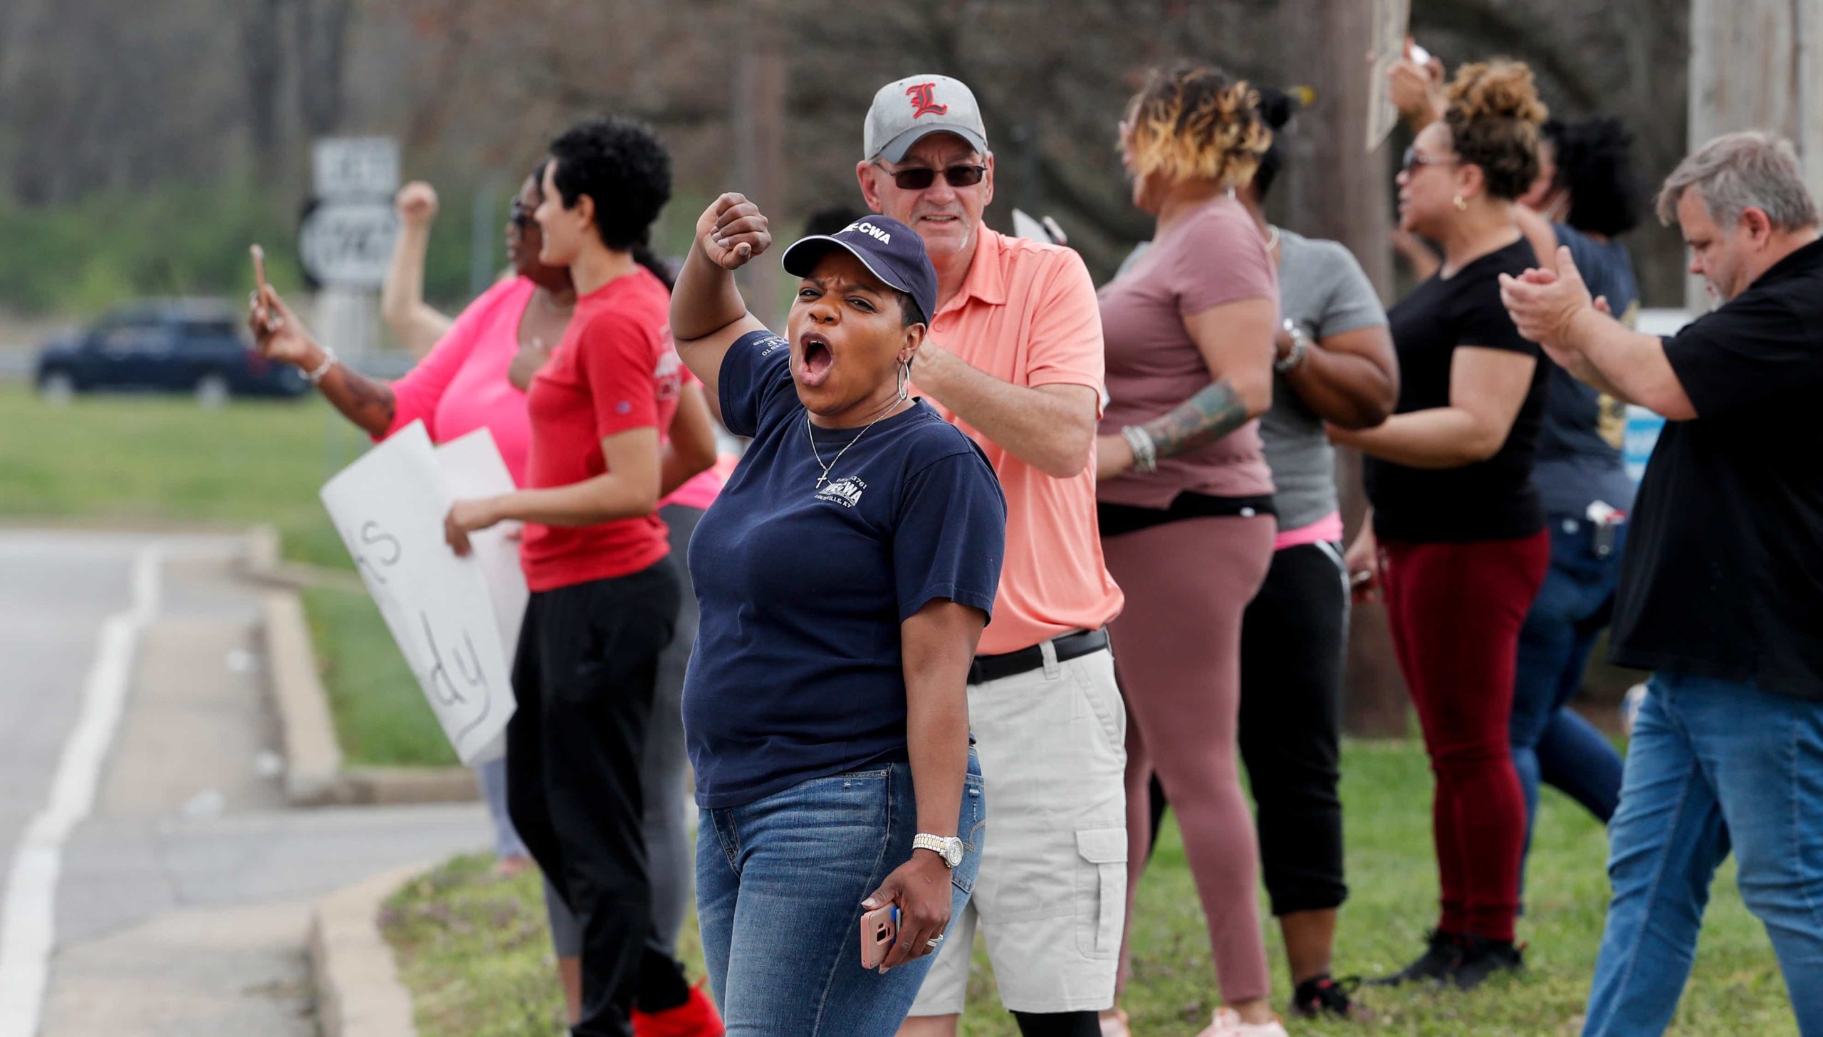
[[[640,758],[678,598],[665,558],[631,576],[534,592],[525,607],[507,809],[582,924],[576,1037],[627,1037],[644,988],[684,984],[653,931],[640,824]]]

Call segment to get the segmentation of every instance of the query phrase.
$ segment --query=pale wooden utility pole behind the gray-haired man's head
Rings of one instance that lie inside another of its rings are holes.
[[[1690,149],[1737,129],[1788,137],[1823,200],[1823,0],[1692,0]],[[1710,308],[1701,279],[1686,301]]]

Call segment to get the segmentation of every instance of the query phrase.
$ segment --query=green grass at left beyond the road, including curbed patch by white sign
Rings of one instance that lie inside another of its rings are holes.
[[[317,397],[202,410],[186,395],[78,395],[49,406],[0,383],[0,516],[58,525],[272,525],[294,561],[354,569],[317,488],[365,436]],[[456,755],[357,590],[304,594],[348,764],[445,765]]]

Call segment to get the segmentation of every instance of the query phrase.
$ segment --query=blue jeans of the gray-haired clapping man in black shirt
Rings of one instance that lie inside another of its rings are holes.
[[[1797,1030],[1823,1037],[1823,702],[1661,673],[1608,840],[1613,900],[1584,1037],[1664,1032],[1730,847]]]

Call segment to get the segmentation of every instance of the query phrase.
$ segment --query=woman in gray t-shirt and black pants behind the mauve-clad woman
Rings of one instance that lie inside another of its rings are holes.
[[[1262,87],[1278,131],[1294,102]],[[1342,878],[1342,658],[1349,587],[1334,450],[1323,425],[1371,428],[1398,399],[1398,361],[1380,297],[1347,248],[1265,221],[1282,168],[1274,142],[1238,191],[1278,262],[1278,364],[1260,439],[1272,468],[1278,539],[1265,583],[1241,620],[1240,751],[1256,804],[1265,888],[1285,937],[1294,1015],[1351,1015],[1329,977]],[[1154,809],[1163,793],[1152,785]],[[1152,826],[1158,831],[1158,826]]]

